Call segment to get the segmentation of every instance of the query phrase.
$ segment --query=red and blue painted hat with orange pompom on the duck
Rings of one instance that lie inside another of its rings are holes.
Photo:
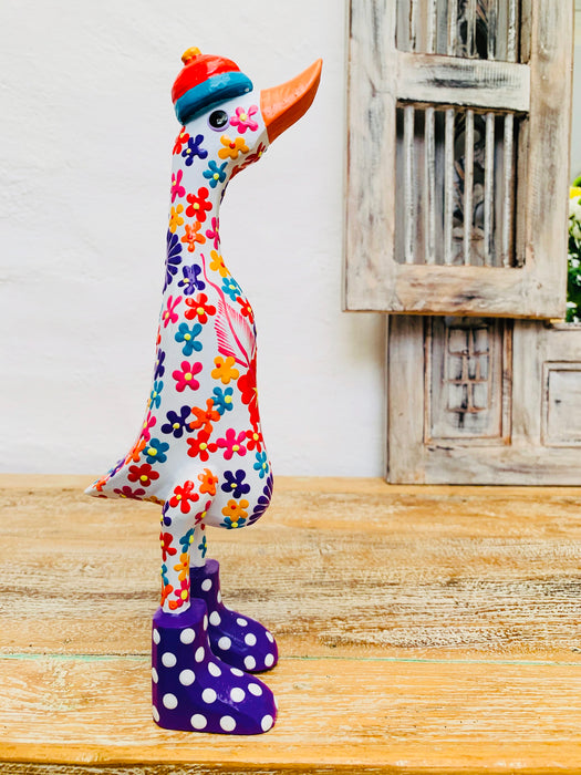
[[[211,105],[252,91],[250,79],[229,59],[188,49],[181,61],[185,68],[172,89],[172,101],[181,124],[196,118]]]

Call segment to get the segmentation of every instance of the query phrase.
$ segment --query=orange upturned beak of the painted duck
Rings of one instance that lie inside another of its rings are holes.
[[[319,89],[322,66],[323,61],[317,60],[291,81],[260,92],[260,110],[270,143],[307,113]]]

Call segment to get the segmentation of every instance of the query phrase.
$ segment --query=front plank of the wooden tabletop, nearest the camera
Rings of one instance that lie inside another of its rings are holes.
[[[563,773],[581,757],[580,665],[282,660],[266,679],[279,720],[258,738],[156,727],[145,658],[0,659],[0,763]]]

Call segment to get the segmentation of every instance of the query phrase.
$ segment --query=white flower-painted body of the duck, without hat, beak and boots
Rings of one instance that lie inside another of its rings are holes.
[[[200,115],[175,140],[147,411],[127,455],[91,489],[163,505],[162,604],[170,611],[189,599],[189,566],[206,557],[206,527],[246,527],[272,494],[258,411],[255,314],[225,264],[219,235],[226,186],[260,158],[268,136],[256,94],[221,107],[224,130],[211,132]]]

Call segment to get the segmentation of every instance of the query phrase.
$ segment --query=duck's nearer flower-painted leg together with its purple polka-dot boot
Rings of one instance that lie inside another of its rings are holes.
[[[277,715],[272,692],[212,653],[206,601],[190,597],[190,550],[196,547],[199,561],[200,515],[207,510],[209,494],[191,482],[176,487],[176,493],[180,497],[166,503],[162,517],[163,593],[152,645],[154,720],[169,730],[267,732]]]

